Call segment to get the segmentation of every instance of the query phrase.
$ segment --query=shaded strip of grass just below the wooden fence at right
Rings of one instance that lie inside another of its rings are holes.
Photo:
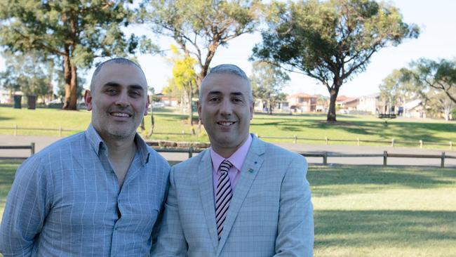
[[[417,167],[311,166],[307,179],[312,187],[312,194],[328,196],[358,191],[367,193],[384,185],[408,188],[448,187],[456,185],[456,172]],[[330,188],[328,185],[336,187]],[[351,186],[340,187],[343,185]]]

